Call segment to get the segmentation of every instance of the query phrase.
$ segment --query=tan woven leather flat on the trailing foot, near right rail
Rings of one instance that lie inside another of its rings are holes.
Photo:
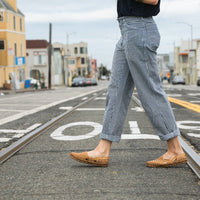
[[[173,157],[171,160],[164,159],[163,156],[156,160],[146,162],[147,167],[172,167],[187,163],[185,153]]]

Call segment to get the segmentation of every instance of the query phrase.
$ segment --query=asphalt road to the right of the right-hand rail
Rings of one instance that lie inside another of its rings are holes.
[[[200,87],[164,86],[169,97],[200,106]],[[182,136],[200,152],[200,113],[171,103]]]

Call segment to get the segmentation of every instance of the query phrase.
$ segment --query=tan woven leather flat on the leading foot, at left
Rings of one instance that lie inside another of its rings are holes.
[[[91,165],[99,166],[99,167],[107,167],[108,162],[109,162],[109,157],[92,158],[88,156],[87,152],[83,152],[83,153],[71,152],[70,157],[78,162],[91,164]]]

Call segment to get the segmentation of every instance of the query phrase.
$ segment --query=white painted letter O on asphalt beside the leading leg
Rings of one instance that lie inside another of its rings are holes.
[[[94,128],[93,131],[90,133],[87,133],[85,135],[76,135],[76,136],[69,136],[69,135],[64,135],[63,131],[69,127],[73,126],[92,126]],[[85,140],[92,138],[96,135],[99,135],[102,131],[102,125],[99,123],[95,122],[75,122],[75,123],[70,123],[66,124],[64,126],[59,127],[56,129],[52,134],[51,137],[54,140],[61,140],[61,141],[76,141],[76,140]]]

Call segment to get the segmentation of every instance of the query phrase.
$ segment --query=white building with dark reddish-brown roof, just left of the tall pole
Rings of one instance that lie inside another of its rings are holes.
[[[46,40],[27,40],[27,76],[48,86],[48,46]]]

